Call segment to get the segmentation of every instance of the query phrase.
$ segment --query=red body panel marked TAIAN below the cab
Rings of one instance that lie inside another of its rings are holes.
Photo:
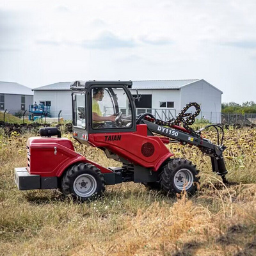
[[[112,139],[109,140],[109,138]],[[120,140],[118,140],[119,138]],[[130,163],[138,164],[145,168],[152,168],[154,171],[158,170],[164,160],[173,156],[164,146],[161,138],[158,136],[147,136],[147,125],[145,124],[137,125],[136,132],[90,134],[88,141],[94,147],[107,148],[118,156],[124,157]],[[145,143],[154,145],[154,154],[152,156],[145,156],[142,153],[141,147]]]

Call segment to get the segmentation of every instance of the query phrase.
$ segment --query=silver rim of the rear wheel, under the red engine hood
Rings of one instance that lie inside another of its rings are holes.
[[[76,178],[73,187],[77,196],[89,197],[95,193],[97,189],[97,181],[92,175],[84,173]]]

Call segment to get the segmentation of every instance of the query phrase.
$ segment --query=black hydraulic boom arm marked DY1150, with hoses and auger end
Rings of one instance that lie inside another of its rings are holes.
[[[186,113],[186,111],[191,107],[194,106],[196,108],[195,113]],[[212,163],[212,171],[216,172],[218,175],[221,175],[223,182],[227,182],[225,179],[225,175],[227,174],[227,170],[225,167],[225,161],[223,158],[223,151],[225,150],[225,146],[223,145],[214,145],[211,143],[210,140],[207,140],[205,138],[202,138],[201,131],[203,129],[200,129],[199,131],[194,131],[191,127],[188,127],[188,125],[193,124],[195,122],[195,116],[198,116],[200,113],[200,106],[196,103],[189,103],[187,104],[180,113],[173,118],[172,120],[169,120],[168,122],[164,122],[162,120],[154,118],[154,116],[150,113],[145,113],[138,118],[138,121],[144,124],[147,124],[147,127],[150,132],[154,132],[157,134],[161,134],[163,136],[166,136],[172,140],[170,142],[177,142],[181,145],[193,145],[206,154],[207,156],[211,157],[211,163]],[[180,122],[183,123],[183,127],[179,126]],[[222,138],[221,138],[221,144],[223,142],[223,129],[219,125],[207,125],[207,127],[204,127],[204,129],[207,129],[208,127],[214,127],[218,132],[218,143],[219,141],[219,131],[218,129],[221,129],[222,131]]]

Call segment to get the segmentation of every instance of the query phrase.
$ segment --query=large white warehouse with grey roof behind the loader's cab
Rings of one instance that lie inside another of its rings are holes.
[[[73,82],[72,82],[73,83]],[[65,120],[72,119],[71,82],[60,82],[41,86],[34,90],[34,100],[50,106],[50,115],[61,116]],[[204,79],[190,80],[159,80],[132,81],[132,95],[141,95],[140,101],[135,100],[137,114],[150,112],[156,118],[168,120],[177,115],[189,102],[200,105],[198,118],[205,118],[212,123],[221,121],[221,90],[212,86]],[[122,97],[116,92],[118,97]],[[120,106],[120,109],[126,108]],[[191,109],[193,111],[193,109]]]

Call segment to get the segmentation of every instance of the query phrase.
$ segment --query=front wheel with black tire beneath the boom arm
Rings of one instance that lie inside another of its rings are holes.
[[[168,194],[182,193],[186,190],[193,195],[197,190],[199,171],[196,166],[186,159],[176,158],[163,166],[160,174],[160,184],[164,192]]]

